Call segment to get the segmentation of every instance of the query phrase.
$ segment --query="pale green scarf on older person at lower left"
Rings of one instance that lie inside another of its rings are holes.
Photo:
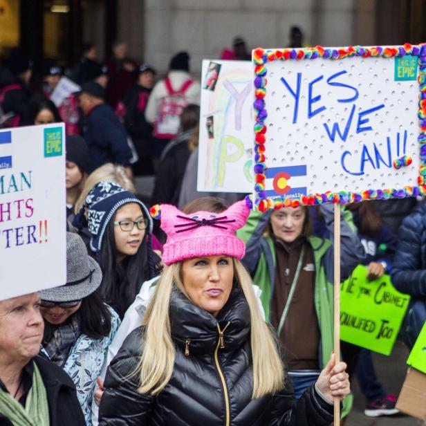
[[[49,426],[49,407],[46,388],[39,369],[34,364],[33,385],[26,398],[25,408],[10,393],[0,389],[0,413],[8,418],[13,426]]]

